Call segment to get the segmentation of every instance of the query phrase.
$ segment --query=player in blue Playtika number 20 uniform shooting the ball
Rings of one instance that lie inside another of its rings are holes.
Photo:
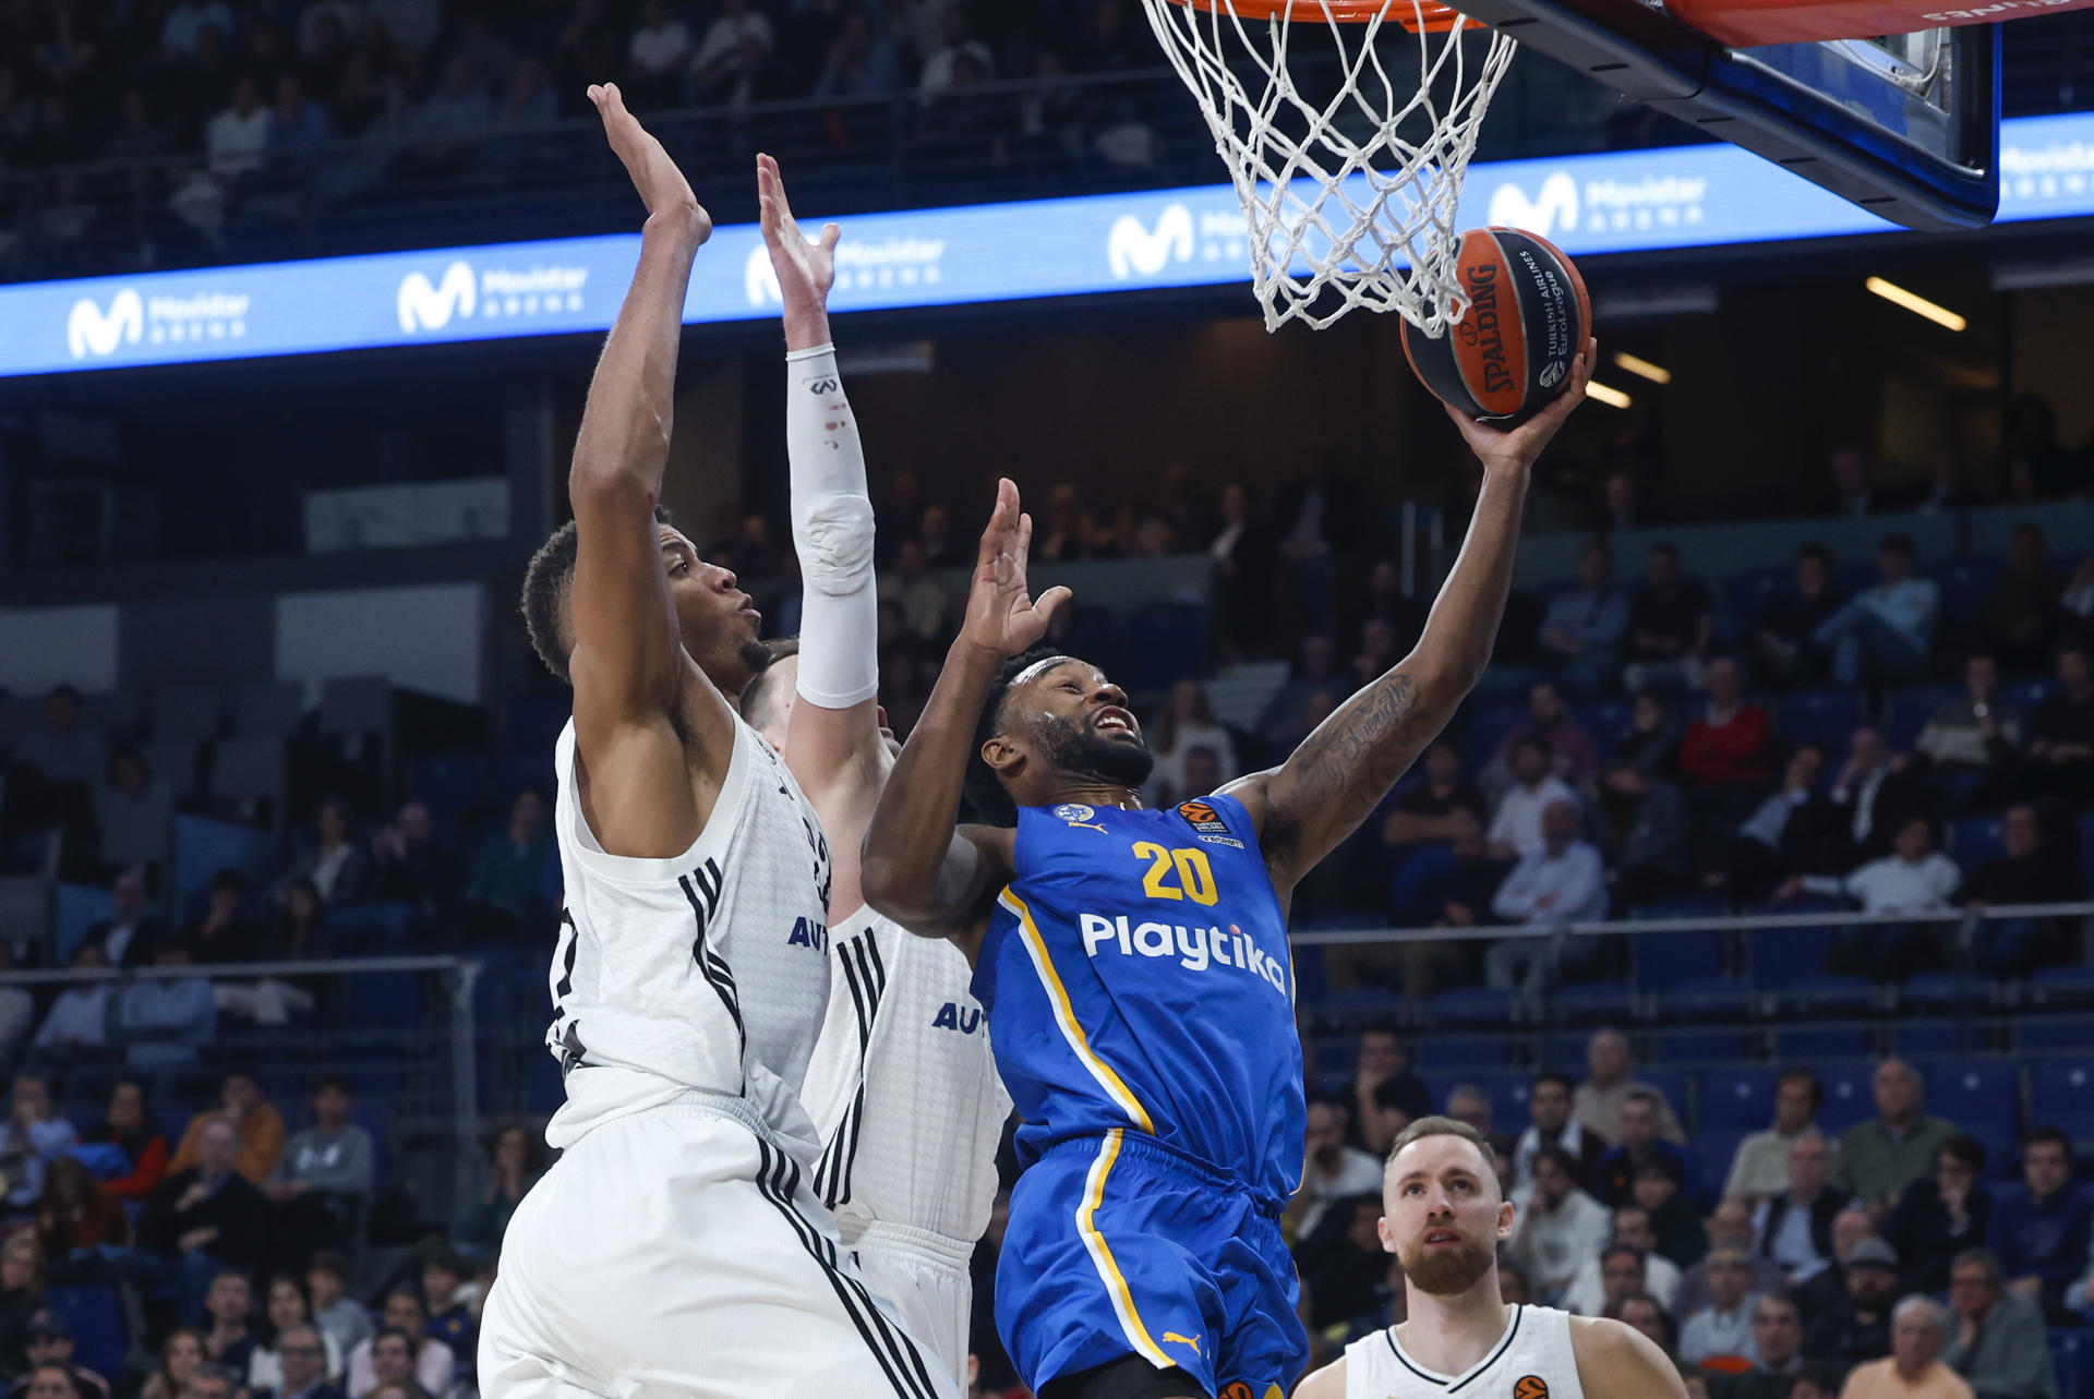
[[[1277,1223],[1305,1127],[1288,903],[1483,674],[1529,469],[1594,356],[1587,341],[1564,396],[1512,431],[1455,417],[1483,490],[1418,647],[1284,764],[1175,810],[1141,810],[1152,758],[1095,666],[1049,656],[1011,674],[1068,591],[1032,601],[1032,521],[999,482],[961,635],[859,880],[976,963],[1026,1120],[997,1330],[1043,1399],[1271,1399],[1300,1376]],[[963,787],[976,810],[1016,806],[1016,825],[955,829]]]

